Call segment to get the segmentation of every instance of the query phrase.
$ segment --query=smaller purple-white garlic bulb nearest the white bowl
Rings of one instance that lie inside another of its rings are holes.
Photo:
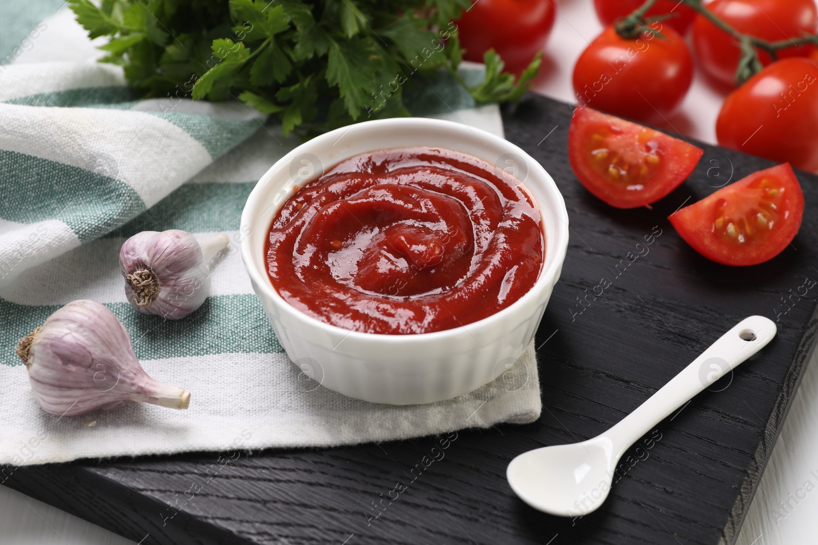
[[[226,235],[200,243],[185,231],[142,231],[119,250],[125,295],[142,314],[184,318],[210,293],[210,270],[227,248]]]

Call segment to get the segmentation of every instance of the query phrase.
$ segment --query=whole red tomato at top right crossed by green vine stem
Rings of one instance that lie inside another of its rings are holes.
[[[774,42],[818,29],[815,0],[715,0],[707,8],[740,33]],[[717,82],[735,87],[733,78],[741,56],[735,38],[699,14],[693,24],[693,48],[707,74]],[[777,55],[808,56],[813,49],[787,47],[777,51]],[[760,51],[759,58],[763,65],[772,62],[764,51]]]

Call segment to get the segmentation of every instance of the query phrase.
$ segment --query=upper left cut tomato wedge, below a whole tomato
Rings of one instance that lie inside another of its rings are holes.
[[[578,106],[568,156],[582,185],[617,208],[655,203],[693,172],[703,150],[663,132]]]

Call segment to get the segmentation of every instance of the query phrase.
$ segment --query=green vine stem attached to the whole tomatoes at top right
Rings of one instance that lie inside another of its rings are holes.
[[[622,38],[636,38],[637,35],[647,31],[661,37],[661,34],[659,34],[657,30],[647,26],[647,23],[665,19],[667,16],[645,19],[645,13],[653,7],[655,2],[656,0],[645,0],[645,2],[642,3],[640,7],[637,7],[636,10],[632,11],[630,15],[614,23],[617,34],[622,36]],[[757,49],[766,51],[772,60],[777,60],[778,56],[776,55],[776,51],[784,47],[798,47],[807,45],[808,43],[818,45],[818,34],[803,34],[802,36],[793,36],[776,42],[758,38],[752,34],[743,34],[728,25],[724,20],[721,20],[720,17],[708,10],[707,7],[704,7],[702,0],[680,0],[679,3],[698,11],[702,16],[707,17],[713,25],[716,25],[727,34],[730,34],[730,36],[739,42],[739,48],[742,54],[739,60],[739,67],[735,73],[735,83],[737,85],[741,85],[763,68],[762,62],[758,58]],[[675,14],[670,14],[670,16],[674,15]]]

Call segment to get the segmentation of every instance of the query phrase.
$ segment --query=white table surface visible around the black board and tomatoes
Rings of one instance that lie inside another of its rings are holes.
[[[60,13],[59,16],[70,14]],[[546,46],[543,74],[535,91],[575,102],[571,86],[573,64],[600,30],[591,0],[560,0],[554,31]],[[715,144],[714,126],[722,99],[721,93],[708,87],[701,74],[696,74],[681,111],[668,118],[667,128]],[[764,309],[759,311],[763,313]],[[738,545],[818,543],[818,518],[815,516],[818,509],[816,360],[818,357],[813,355],[796,392],[792,409],[749,507]],[[781,502],[789,503],[789,507],[784,509]],[[672,523],[665,521],[664,524]],[[673,531],[672,527],[668,529]],[[137,542],[0,486],[0,545],[134,543]]]

